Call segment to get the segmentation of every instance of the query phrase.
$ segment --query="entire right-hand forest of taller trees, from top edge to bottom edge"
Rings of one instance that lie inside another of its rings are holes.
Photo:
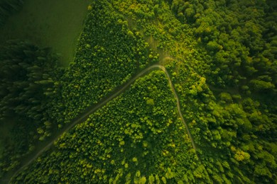
[[[195,84],[193,71],[183,67],[175,81],[208,173],[217,183],[273,183],[276,3],[176,0],[170,6],[210,55],[210,69],[202,73],[210,89]],[[213,168],[217,162],[228,163],[228,171]]]

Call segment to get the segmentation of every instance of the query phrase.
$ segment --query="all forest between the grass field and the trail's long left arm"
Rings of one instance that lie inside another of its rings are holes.
[[[1,48],[1,117],[15,124],[13,133],[1,139],[6,142],[0,149],[5,150],[0,151],[3,173],[15,168],[36,140],[44,141],[137,71],[158,61],[158,54],[107,1],[89,7],[75,60],[65,71],[48,49],[20,41]]]

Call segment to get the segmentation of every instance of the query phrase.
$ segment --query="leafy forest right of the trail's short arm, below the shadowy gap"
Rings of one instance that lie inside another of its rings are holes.
[[[178,83],[186,122],[200,151],[202,164],[217,182],[251,183],[276,180],[276,103],[241,99],[231,91],[210,91],[204,79],[180,67]],[[194,76],[194,77],[192,77]],[[180,82],[182,81],[182,82]],[[195,81],[196,84],[195,84]],[[182,93],[185,91],[185,93]],[[228,93],[229,92],[229,93]],[[269,163],[270,162],[270,163]],[[214,167],[224,163],[226,168]],[[263,168],[260,174],[260,168]],[[256,170],[256,173],[254,171]]]

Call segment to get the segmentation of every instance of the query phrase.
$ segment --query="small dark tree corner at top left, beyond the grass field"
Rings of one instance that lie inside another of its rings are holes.
[[[24,4],[24,0],[2,0],[0,1],[0,28],[12,13],[19,11]]]

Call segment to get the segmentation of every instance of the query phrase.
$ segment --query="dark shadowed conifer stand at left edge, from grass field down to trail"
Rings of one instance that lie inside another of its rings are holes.
[[[1,45],[0,69],[0,126],[12,126],[9,136],[1,136],[3,175],[32,151],[35,141],[50,136],[63,70],[48,48],[19,40]]]

